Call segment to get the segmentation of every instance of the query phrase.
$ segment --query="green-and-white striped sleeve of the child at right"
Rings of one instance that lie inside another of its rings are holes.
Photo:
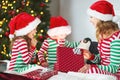
[[[114,40],[110,44],[110,64],[107,66],[98,65],[102,70],[116,73],[120,65],[120,40]]]

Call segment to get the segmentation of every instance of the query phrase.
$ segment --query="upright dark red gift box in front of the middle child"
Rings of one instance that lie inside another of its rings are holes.
[[[57,47],[57,62],[55,70],[61,72],[74,71],[77,72],[84,66],[83,54],[74,54],[73,48]]]

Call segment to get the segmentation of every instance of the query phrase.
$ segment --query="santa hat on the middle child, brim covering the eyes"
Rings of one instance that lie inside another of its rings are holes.
[[[56,36],[60,34],[67,34],[71,33],[71,27],[68,22],[61,16],[51,17],[50,19],[50,26],[47,34],[49,36]]]

